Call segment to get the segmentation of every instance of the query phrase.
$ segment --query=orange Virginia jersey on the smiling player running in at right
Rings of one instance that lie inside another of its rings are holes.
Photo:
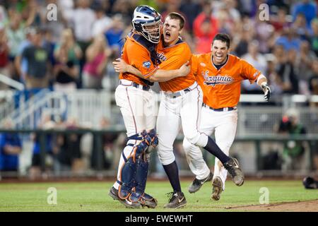
[[[211,53],[192,57],[192,70],[204,92],[204,103],[213,108],[235,107],[240,100],[241,81],[252,84],[260,71],[247,61],[228,54],[228,61],[219,70],[212,63]]]

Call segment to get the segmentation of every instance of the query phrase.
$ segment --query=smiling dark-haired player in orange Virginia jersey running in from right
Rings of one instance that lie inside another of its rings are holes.
[[[193,55],[192,71],[196,81],[204,92],[201,112],[200,130],[208,136],[215,131],[216,143],[225,155],[229,154],[237,128],[237,102],[240,100],[240,83],[248,79],[250,83],[257,82],[264,90],[264,99],[269,100],[271,90],[267,80],[260,71],[247,61],[229,54],[230,37],[217,34],[211,44],[208,54]],[[183,142],[187,161],[196,178],[189,186],[189,192],[198,191],[206,182],[210,169],[202,155],[197,157],[199,148],[193,145],[187,137]],[[228,170],[216,158],[213,174],[213,192],[211,198],[219,200],[225,189],[225,179]]]

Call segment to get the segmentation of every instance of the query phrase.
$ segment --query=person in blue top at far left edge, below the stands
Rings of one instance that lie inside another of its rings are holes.
[[[6,120],[5,129],[12,129],[12,123]],[[0,133],[0,172],[18,172],[22,143],[18,133]]]

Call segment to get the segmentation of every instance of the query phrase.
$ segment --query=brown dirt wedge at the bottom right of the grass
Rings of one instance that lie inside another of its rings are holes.
[[[232,206],[226,209],[261,212],[318,212],[318,199],[312,201],[283,202],[268,205]]]

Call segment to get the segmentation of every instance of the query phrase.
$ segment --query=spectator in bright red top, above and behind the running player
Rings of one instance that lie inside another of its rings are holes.
[[[203,11],[193,23],[195,53],[203,54],[211,51],[211,42],[218,32],[218,20],[212,15],[211,1],[204,1]]]

